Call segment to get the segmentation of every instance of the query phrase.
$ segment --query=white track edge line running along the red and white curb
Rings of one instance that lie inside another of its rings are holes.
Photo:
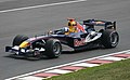
[[[95,59],[95,58],[102,58],[102,57],[106,57],[106,56],[110,56],[110,55],[119,54],[119,53],[125,53],[125,52],[130,52],[130,50],[126,50],[126,51],[121,51],[121,52],[116,52],[116,53],[110,53],[110,54],[107,54],[107,55],[101,55],[101,56],[96,56],[96,57],[92,57],[92,58],[81,59],[81,61],[78,61],[78,62],[73,62],[73,63],[68,63],[68,64],[64,64],[64,65],[58,65],[58,66],[54,66],[54,67],[50,67],[50,68],[37,70],[37,71],[32,71],[32,72],[29,72],[29,74],[25,74],[25,75],[12,77],[12,78],[9,78],[9,79],[5,79],[5,80],[15,80],[15,79],[18,79],[18,78],[22,78],[22,77],[31,76],[31,75],[37,74],[37,72],[42,72],[42,71],[55,69],[57,67],[67,66],[67,65],[74,65],[74,64],[78,64],[78,63],[81,63],[81,62],[91,61],[91,59]]]

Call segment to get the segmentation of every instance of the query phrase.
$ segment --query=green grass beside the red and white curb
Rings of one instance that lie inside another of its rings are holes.
[[[47,80],[130,80],[130,59],[86,68]]]

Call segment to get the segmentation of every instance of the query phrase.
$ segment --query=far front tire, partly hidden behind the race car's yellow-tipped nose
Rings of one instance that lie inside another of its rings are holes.
[[[27,40],[28,37],[24,36],[24,35],[17,35],[14,39],[13,39],[13,43],[12,45],[20,45],[23,41]]]

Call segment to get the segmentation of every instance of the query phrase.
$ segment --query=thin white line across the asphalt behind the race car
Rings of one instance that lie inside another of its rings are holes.
[[[4,11],[0,11],[0,13],[22,11],[22,10],[29,10],[29,9],[36,9],[36,8],[44,8],[44,6],[53,6],[53,5],[60,5],[60,4],[76,3],[76,2],[82,2],[82,1],[87,1],[87,0],[75,0],[75,1],[67,1],[67,2],[58,2],[58,3],[50,3],[50,4],[42,4],[42,5],[35,5],[35,6],[4,10]]]

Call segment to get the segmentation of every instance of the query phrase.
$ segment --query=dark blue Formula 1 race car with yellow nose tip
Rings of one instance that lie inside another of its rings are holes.
[[[62,44],[74,51],[87,50],[93,46],[106,49],[116,48],[119,42],[119,35],[116,31],[116,22],[87,19],[77,22],[84,31],[65,35],[66,27],[49,31],[48,34],[28,38],[17,35],[12,46],[5,46],[5,52],[16,56],[38,57],[46,55],[56,58],[62,53]]]

